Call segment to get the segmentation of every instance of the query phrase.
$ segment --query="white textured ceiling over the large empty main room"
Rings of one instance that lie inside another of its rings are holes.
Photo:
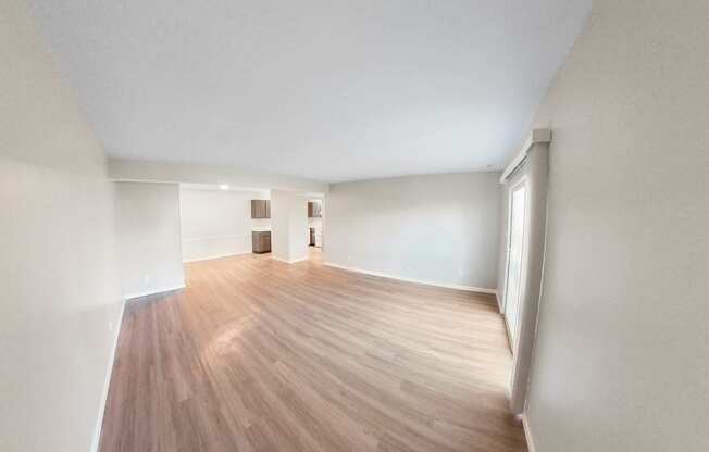
[[[592,0],[30,0],[112,156],[499,170]]]

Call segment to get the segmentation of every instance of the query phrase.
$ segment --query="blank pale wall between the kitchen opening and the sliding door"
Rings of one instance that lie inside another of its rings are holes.
[[[328,263],[440,285],[494,289],[499,173],[333,184]]]

